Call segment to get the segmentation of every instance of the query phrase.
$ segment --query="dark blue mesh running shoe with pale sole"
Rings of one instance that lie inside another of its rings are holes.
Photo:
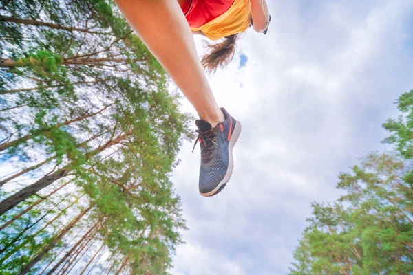
[[[234,161],[233,147],[241,133],[241,124],[229,113],[224,113],[224,122],[215,128],[205,120],[197,120],[198,139],[201,147],[200,194],[211,197],[221,192],[231,178]]]

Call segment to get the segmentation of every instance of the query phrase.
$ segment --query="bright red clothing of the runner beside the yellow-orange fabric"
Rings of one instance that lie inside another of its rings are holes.
[[[235,0],[189,0],[182,12],[191,28],[198,28],[224,14]]]

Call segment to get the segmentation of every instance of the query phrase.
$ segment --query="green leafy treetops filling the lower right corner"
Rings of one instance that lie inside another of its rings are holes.
[[[413,270],[413,91],[397,100],[402,115],[383,127],[396,152],[372,153],[337,188],[334,203],[313,203],[290,274],[410,274]]]

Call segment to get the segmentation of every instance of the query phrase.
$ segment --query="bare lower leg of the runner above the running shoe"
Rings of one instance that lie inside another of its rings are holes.
[[[195,107],[214,127],[224,115],[198,59],[191,29],[177,0],[115,0],[140,39]]]

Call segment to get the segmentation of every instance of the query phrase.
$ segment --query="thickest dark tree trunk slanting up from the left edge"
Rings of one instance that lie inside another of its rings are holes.
[[[129,131],[123,135],[119,135],[116,137],[114,140],[109,140],[105,145],[100,146],[99,148],[96,148],[96,150],[92,151],[88,156],[87,159],[90,157],[93,157],[94,155],[97,155],[98,153],[105,151],[105,149],[109,148],[110,146],[117,144],[121,142],[122,140],[125,139],[128,135],[130,135],[132,131]],[[61,170],[56,171],[52,175],[47,175],[45,177],[42,177],[38,181],[36,181],[34,184],[31,184],[30,186],[26,186],[25,188],[21,189],[19,192],[14,193],[10,197],[4,199],[3,201],[0,202],[0,216],[4,214],[6,211],[14,208],[14,206],[17,206],[17,204],[21,203],[21,201],[24,201],[31,195],[34,195],[36,192],[39,192],[39,190],[50,186],[50,184],[54,183],[54,181],[61,179],[67,173],[69,173],[72,170],[70,168],[70,164],[65,166],[65,168],[62,168]]]

